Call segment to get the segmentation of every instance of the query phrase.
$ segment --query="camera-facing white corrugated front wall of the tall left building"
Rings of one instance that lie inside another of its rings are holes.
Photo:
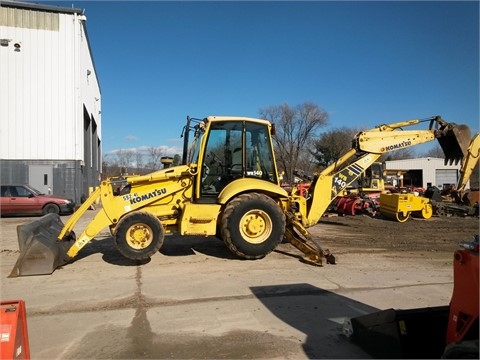
[[[12,11],[21,16],[7,18],[28,27],[1,24],[0,38],[10,40],[8,46],[0,47],[0,63],[7,70],[0,85],[2,158],[78,159],[71,15],[48,14],[57,21],[43,21],[42,12],[0,8],[0,13]],[[57,30],[37,29],[55,22]]]

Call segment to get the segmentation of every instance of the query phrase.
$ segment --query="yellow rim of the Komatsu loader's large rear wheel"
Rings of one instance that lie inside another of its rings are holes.
[[[262,210],[251,210],[243,215],[239,227],[245,241],[260,244],[272,233],[272,220]]]

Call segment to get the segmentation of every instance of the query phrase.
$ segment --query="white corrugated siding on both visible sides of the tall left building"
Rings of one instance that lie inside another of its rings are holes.
[[[84,106],[97,123],[101,117],[81,20],[0,7],[2,159],[84,160]]]

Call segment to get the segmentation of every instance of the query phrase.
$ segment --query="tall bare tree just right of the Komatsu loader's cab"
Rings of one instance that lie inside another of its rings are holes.
[[[317,135],[317,130],[327,124],[328,113],[311,102],[295,107],[286,103],[269,106],[260,109],[259,113],[275,124],[273,141],[276,156],[285,171],[286,180],[291,182],[302,155],[308,153],[308,143]]]

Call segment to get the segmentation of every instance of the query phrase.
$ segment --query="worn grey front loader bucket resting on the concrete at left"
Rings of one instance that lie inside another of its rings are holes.
[[[63,223],[57,214],[47,214],[17,226],[20,255],[9,277],[51,274],[68,260],[72,241],[57,239]]]

